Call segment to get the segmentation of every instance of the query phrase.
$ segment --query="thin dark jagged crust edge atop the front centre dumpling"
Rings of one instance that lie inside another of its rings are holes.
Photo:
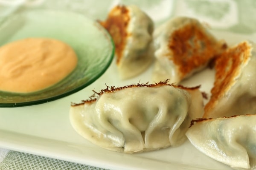
[[[115,87],[115,86],[108,86],[108,85],[106,85],[107,86],[106,89],[102,89],[99,92],[96,92],[96,91],[93,90],[93,95],[91,95],[89,97],[89,99],[82,100],[81,103],[77,103],[77,104],[76,103],[72,103],[71,106],[78,106],[78,105],[84,105],[85,103],[96,102],[96,100],[102,94],[113,93],[115,91],[121,91],[121,90],[126,89],[126,88],[134,88],[134,87],[149,87],[149,88],[152,88],[152,87],[163,86],[163,85],[169,85],[169,86],[172,86],[172,87],[175,87],[175,88],[184,89],[184,90],[197,90],[197,89],[200,88],[200,85],[188,88],[188,87],[184,87],[182,85],[169,84],[168,81],[169,81],[169,79],[167,79],[165,81],[160,81],[160,82],[157,82],[157,83],[154,83],[154,84],[149,84],[148,82],[147,83],[140,83],[139,82],[137,84],[131,84],[131,85],[126,85],[126,86],[122,86],[122,87]]]

